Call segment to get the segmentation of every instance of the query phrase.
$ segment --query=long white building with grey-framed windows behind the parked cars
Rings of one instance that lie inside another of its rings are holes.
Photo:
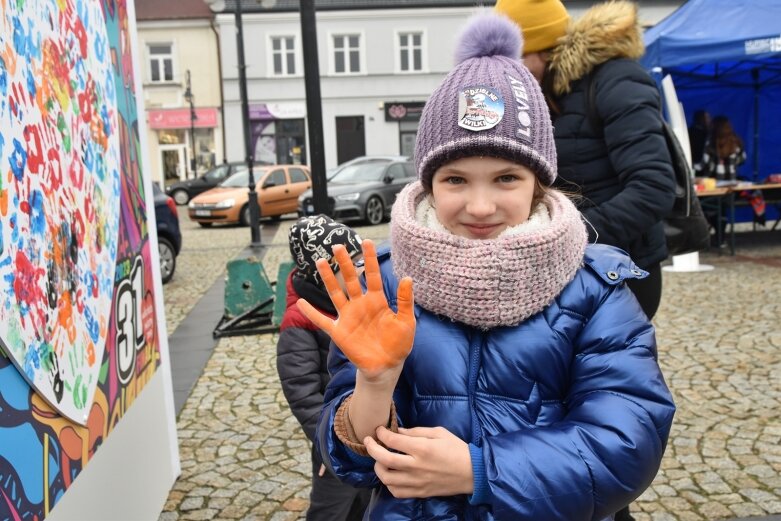
[[[206,0],[207,3],[209,0]],[[566,2],[573,17],[593,2]],[[653,25],[680,0],[646,1]],[[257,162],[307,163],[299,2],[242,3],[251,148]],[[455,39],[488,0],[320,0],[317,42],[326,167],[364,154],[412,155],[420,110],[453,66]],[[235,0],[220,34],[226,156],[244,158]]]

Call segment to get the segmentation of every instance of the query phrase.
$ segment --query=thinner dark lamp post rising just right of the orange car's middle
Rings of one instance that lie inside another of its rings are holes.
[[[247,168],[249,169],[249,220],[251,242],[250,246],[255,248],[261,246],[260,242],[260,207],[258,206],[258,194],[255,191],[255,176],[253,173],[253,154],[252,154],[252,136],[249,128],[249,101],[247,98],[247,65],[244,61],[244,34],[243,23],[241,19],[241,2],[236,0],[236,10],[234,12],[236,20],[236,52],[239,62],[239,95],[241,97],[241,120],[244,127],[244,153],[247,158]],[[224,0],[207,0],[209,8],[213,12],[221,12],[225,8]]]

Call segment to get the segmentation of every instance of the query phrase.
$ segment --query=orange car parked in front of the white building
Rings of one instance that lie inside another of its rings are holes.
[[[258,166],[252,169],[260,216],[279,219],[295,213],[298,196],[312,186],[309,168],[303,165]],[[236,223],[249,226],[249,170],[239,170],[228,179],[194,197],[187,205],[190,219],[201,226]]]

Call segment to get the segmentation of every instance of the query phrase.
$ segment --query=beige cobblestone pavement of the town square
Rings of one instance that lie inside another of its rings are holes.
[[[165,286],[169,331],[249,237],[185,220],[185,251]],[[270,274],[288,258],[292,222],[263,259]],[[359,228],[376,240],[387,230]],[[638,521],[781,514],[781,234],[775,244],[757,237],[740,234],[735,257],[702,254],[711,272],[664,274],[655,323],[678,412],[662,468],[632,507]],[[309,448],[282,395],[275,346],[273,334],[220,340],[178,418],[182,475],[160,521],[304,519]]]

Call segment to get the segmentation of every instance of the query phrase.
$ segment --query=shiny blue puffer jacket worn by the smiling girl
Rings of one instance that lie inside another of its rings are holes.
[[[378,258],[395,309],[390,253]],[[334,415],[355,367],[332,345],[319,449],[343,481],[379,485],[364,519],[599,520],[651,483],[675,406],[653,326],[622,283],[644,272],[611,246],[589,246],[584,262],[551,305],[516,327],[482,331],[416,306],[415,344],[394,394],[399,424],[442,426],[467,441],[485,472],[472,496],[396,499],[373,460],[339,441]]]

